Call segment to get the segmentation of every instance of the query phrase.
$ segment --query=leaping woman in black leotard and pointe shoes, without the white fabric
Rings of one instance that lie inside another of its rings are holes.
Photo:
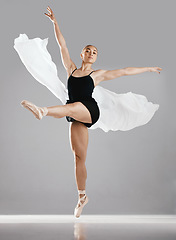
[[[93,45],[87,45],[81,52],[82,65],[77,69],[71,60],[66,42],[59,29],[56,18],[50,7],[47,8],[47,17],[54,23],[55,35],[60,46],[63,65],[68,75],[68,95],[65,105],[52,107],[37,107],[33,103],[23,100],[22,106],[30,110],[37,119],[43,116],[53,116],[55,118],[66,117],[70,124],[71,148],[75,159],[75,177],[79,194],[78,204],[74,215],[79,217],[83,207],[88,202],[85,187],[87,170],[85,166],[87,147],[88,147],[88,128],[93,126],[100,117],[100,108],[92,97],[94,88],[105,80],[115,79],[124,75],[139,74],[146,71],[160,73],[160,67],[144,68],[123,68],[117,70],[96,70],[92,69],[92,64],[96,61],[98,50]]]

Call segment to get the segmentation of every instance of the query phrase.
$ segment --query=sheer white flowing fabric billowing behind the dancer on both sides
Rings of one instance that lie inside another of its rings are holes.
[[[63,104],[69,99],[68,90],[57,75],[57,68],[46,46],[48,38],[29,39],[20,34],[14,40],[14,48],[21,61],[41,84],[46,86]],[[99,120],[89,129],[101,128],[103,131],[127,131],[148,123],[159,105],[148,102],[143,95],[132,92],[116,94],[101,86],[94,88],[92,97],[100,109]]]

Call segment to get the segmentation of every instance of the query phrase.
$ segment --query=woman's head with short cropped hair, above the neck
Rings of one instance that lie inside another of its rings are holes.
[[[84,62],[94,63],[97,59],[97,49],[94,46],[88,46],[83,49],[81,59]]]

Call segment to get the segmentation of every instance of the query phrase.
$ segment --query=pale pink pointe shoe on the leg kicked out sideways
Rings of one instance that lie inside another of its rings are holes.
[[[41,120],[43,116],[46,116],[48,113],[48,109],[46,107],[37,107],[36,105],[27,100],[23,100],[21,102],[21,105],[24,108],[30,110],[38,120]]]

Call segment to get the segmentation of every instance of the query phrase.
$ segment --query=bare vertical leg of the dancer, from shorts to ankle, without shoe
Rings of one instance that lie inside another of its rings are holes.
[[[75,158],[75,178],[78,190],[86,187],[87,170],[86,155],[88,147],[88,129],[79,122],[72,122],[70,125],[70,144]],[[80,194],[79,198],[84,194]]]

